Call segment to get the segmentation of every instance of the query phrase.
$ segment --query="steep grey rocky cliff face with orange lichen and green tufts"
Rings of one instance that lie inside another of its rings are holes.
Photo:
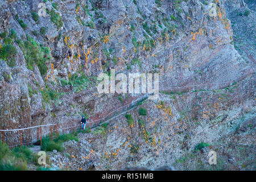
[[[211,2],[216,16],[209,16]],[[221,151],[216,169],[255,169],[249,163],[255,158],[253,1],[0,0],[0,6],[1,129],[101,118],[137,96],[98,94],[99,73],[160,73],[159,88],[185,89],[143,103],[146,116],[132,110],[135,126],[120,116],[105,135],[87,138],[97,169],[163,163],[210,169],[207,151],[192,152],[203,141]],[[14,133],[5,135],[15,144]],[[33,133],[25,135],[24,142]]]

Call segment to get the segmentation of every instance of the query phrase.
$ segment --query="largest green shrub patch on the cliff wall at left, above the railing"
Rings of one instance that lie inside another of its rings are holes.
[[[38,65],[39,71],[43,76],[47,72],[47,63],[51,60],[50,49],[48,47],[39,46],[33,38],[27,35],[27,40],[22,42],[17,41],[22,49],[26,59],[27,68],[33,70],[34,65]]]

